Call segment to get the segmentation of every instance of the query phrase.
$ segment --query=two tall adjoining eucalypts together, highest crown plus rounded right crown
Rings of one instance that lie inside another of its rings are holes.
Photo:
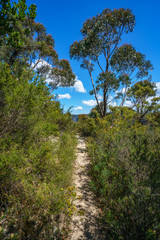
[[[81,61],[81,67],[87,69],[91,78],[97,105],[102,117],[110,102],[110,97],[118,88],[125,87],[124,94],[116,94],[115,98],[122,97],[122,105],[126,99],[126,89],[136,80],[148,76],[152,68],[145,55],[136,52],[130,44],[119,47],[123,35],[132,32],[135,27],[135,16],[130,9],[104,9],[85,21],[81,29],[82,40],[75,41],[70,47],[70,56]],[[93,78],[93,71],[99,68],[97,79]],[[132,75],[135,74],[135,77]],[[103,95],[103,104],[100,105],[97,94]],[[113,99],[113,96],[112,96]]]

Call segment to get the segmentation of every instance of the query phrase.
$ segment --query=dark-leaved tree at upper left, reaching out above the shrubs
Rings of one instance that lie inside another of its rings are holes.
[[[16,64],[17,72],[24,67],[35,70],[45,79],[51,79],[53,88],[74,84],[75,75],[70,63],[65,59],[59,60],[52,35],[47,34],[43,24],[35,21],[34,4],[27,7],[26,0],[19,0],[18,3],[4,0],[0,16],[1,61],[11,68]]]

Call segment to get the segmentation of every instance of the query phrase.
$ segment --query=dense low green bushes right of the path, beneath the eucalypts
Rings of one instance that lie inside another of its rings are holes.
[[[131,108],[110,107],[105,118],[93,109],[77,123],[88,139],[91,187],[108,239],[160,237],[160,114],[139,119]]]

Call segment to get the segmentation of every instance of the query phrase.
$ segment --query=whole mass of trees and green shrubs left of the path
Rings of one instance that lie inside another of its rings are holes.
[[[60,85],[73,84],[74,74],[35,22],[35,5],[2,1],[0,14],[0,239],[60,239],[73,212],[76,141],[44,73],[59,74]],[[36,58],[50,67],[40,71]]]

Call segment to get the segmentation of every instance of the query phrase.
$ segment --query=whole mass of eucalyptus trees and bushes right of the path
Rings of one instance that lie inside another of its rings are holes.
[[[71,45],[70,56],[88,71],[97,102],[89,115],[79,116],[77,129],[88,140],[91,187],[106,238],[157,240],[160,98],[151,62],[131,44],[122,44],[134,26],[130,9],[104,9],[84,22],[82,40]]]

